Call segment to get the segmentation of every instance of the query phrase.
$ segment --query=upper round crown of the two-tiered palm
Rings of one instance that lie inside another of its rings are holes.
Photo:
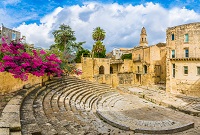
[[[105,39],[106,32],[100,27],[96,27],[93,30],[92,38],[94,41],[103,41]]]

